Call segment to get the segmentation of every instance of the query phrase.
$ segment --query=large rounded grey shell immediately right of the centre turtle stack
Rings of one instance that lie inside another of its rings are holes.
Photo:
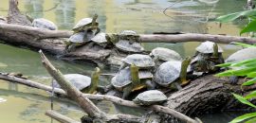
[[[155,72],[155,82],[162,86],[168,86],[179,78],[181,62],[164,62]]]

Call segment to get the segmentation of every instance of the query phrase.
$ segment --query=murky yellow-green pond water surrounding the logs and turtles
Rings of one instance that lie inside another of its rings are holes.
[[[239,22],[223,25],[221,28],[212,21],[215,17],[243,9],[246,5],[241,0],[214,0],[217,3],[207,4],[197,0],[20,0],[19,8],[33,18],[44,17],[53,21],[59,29],[70,29],[80,19],[99,14],[102,31],[119,32],[124,29],[136,30],[137,33],[153,32],[195,32],[210,34],[239,35]],[[0,15],[7,15],[8,0],[1,0]],[[143,44],[147,50],[157,46],[174,49],[183,57],[192,56],[198,43],[186,44]],[[240,47],[222,45],[227,57]],[[49,56],[50,57],[50,56]],[[78,62],[63,62],[50,57],[63,73],[84,73],[89,75],[94,69],[93,64]],[[28,79],[50,84],[50,77],[40,62],[37,52],[26,48],[17,48],[0,44],[0,62],[4,72],[22,72]],[[115,70],[103,70],[115,72]],[[106,78],[101,78],[101,84],[107,84]],[[0,80],[0,98],[7,101],[0,103],[0,121],[6,123],[56,122],[45,115],[50,109],[49,94],[23,85]],[[109,102],[99,102],[99,107],[115,114],[126,109],[115,107]],[[59,113],[79,120],[82,111],[68,100],[54,98],[54,109]],[[136,114],[137,111],[130,114]],[[227,116],[228,115],[228,116]],[[208,114],[200,116],[208,123],[226,123],[235,114]]]

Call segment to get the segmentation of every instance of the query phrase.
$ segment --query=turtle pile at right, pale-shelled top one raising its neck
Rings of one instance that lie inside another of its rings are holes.
[[[206,41],[196,47],[195,56],[192,59],[192,69],[195,72],[216,72],[219,67],[216,64],[224,62],[223,49],[216,43]]]

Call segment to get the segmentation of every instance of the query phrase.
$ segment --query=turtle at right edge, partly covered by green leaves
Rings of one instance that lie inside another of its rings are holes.
[[[244,48],[231,54],[225,62],[242,62],[249,59],[256,59],[255,52],[256,52],[256,47]],[[230,76],[229,82],[232,84],[236,84],[238,82],[238,77]]]

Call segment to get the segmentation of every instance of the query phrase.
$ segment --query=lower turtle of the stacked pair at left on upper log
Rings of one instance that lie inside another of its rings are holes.
[[[92,37],[93,32],[90,30],[73,34],[64,42],[66,52],[74,51],[76,47],[89,43]]]

